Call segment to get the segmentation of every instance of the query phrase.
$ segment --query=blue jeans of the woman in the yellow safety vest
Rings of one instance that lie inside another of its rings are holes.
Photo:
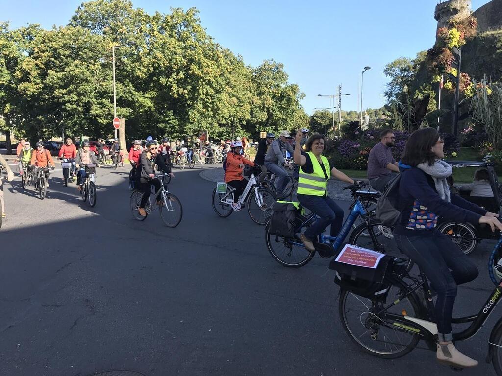
[[[297,195],[300,204],[315,213],[317,221],[305,230],[305,236],[311,241],[317,241],[329,224],[331,224],[331,236],[337,236],[342,228],[343,209],[329,197]]]

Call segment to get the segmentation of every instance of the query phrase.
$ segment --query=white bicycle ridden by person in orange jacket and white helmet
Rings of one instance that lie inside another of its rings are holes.
[[[257,175],[255,176],[255,172]],[[276,201],[276,197],[272,191],[262,186],[261,167],[253,168],[244,172],[244,176],[250,175],[246,187],[238,202],[241,206],[247,206],[247,213],[251,219],[259,224],[266,225],[272,215],[272,204]],[[257,176],[258,179],[257,179]],[[232,214],[233,192],[235,191],[226,183],[218,183],[213,190],[212,205],[216,214],[222,218]]]

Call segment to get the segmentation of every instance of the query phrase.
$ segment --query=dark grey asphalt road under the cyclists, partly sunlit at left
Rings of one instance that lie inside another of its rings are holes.
[[[382,360],[343,331],[328,261],[287,269],[269,255],[264,229],[246,212],[216,217],[214,183],[200,168],[175,171],[170,190],[181,224],[144,222],[129,211],[128,168],[98,169],[97,204],[51,176],[47,198],[6,183],[0,230],[0,375],[75,376],[108,369],[154,375],[444,375],[415,349]],[[345,207],[348,203],[341,203]],[[485,242],[472,255],[480,276],[459,289],[456,314],[492,289]],[[484,363],[491,327],[458,344]],[[497,317],[495,317],[497,316]]]

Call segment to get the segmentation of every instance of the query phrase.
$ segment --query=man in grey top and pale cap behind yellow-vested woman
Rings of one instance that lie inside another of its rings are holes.
[[[291,135],[287,130],[283,130],[279,138],[272,142],[265,155],[265,167],[273,174],[279,176],[276,190],[278,198],[282,198],[283,191],[286,185],[288,185],[289,174],[284,169],[286,151],[289,151],[291,155],[294,153],[293,147],[288,142],[288,138],[291,138]]]

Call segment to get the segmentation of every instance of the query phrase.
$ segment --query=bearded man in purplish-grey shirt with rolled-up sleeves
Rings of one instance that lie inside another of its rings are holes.
[[[391,150],[396,140],[394,131],[392,129],[382,131],[380,140],[369,152],[368,179],[369,185],[374,190],[383,193],[387,184],[395,177],[393,172],[399,172],[399,168]]]

